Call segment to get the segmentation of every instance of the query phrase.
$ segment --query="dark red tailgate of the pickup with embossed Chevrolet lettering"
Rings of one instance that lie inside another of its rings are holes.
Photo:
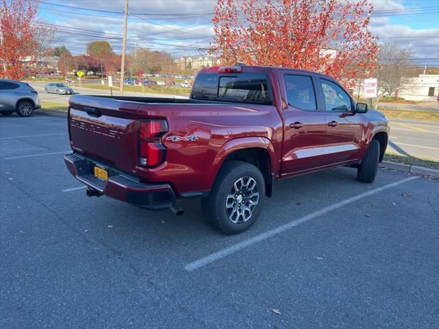
[[[131,173],[138,164],[139,105],[97,96],[71,97],[69,134],[72,149]]]

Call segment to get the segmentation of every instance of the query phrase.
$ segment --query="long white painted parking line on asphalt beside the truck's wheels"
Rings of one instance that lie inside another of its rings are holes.
[[[209,265],[210,263],[213,263],[216,260],[219,260],[219,259],[224,258],[226,256],[229,256],[231,254],[235,254],[235,252],[239,252],[239,250],[245,249],[246,247],[250,247],[251,245],[254,245],[255,243],[265,241],[265,240],[270,239],[273,236],[281,234],[287,230],[291,230],[292,228],[294,228],[295,226],[298,226],[301,223],[305,223],[307,221],[310,221],[311,219],[315,219],[317,217],[320,217],[320,216],[326,214],[327,212],[331,212],[333,210],[336,210],[338,208],[346,206],[346,204],[351,204],[351,203],[356,202],[360,199],[363,199],[364,197],[368,197],[369,195],[374,195],[376,193],[385,191],[388,188],[392,188],[394,186],[398,186],[398,185],[404,184],[406,182],[410,182],[411,180],[416,180],[418,178],[419,178],[418,176],[405,178],[404,180],[400,180],[399,182],[394,182],[392,184],[388,184],[388,185],[381,186],[379,188],[375,188],[371,191],[361,193],[359,195],[356,195],[355,197],[350,197],[350,198],[345,199],[341,202],[337,202],[336,204],[333,204],[331,206],[322,208],[316,212],[311,212],[311,214],[309,214],[309,215],[305,215],[304,217],[300,217],[299,219],[294,219],[293,221],[289,221],[288,223],[285,223],[281,226],[278,226],[277,228],[273,228],[272,230],[258,234],[256,236],[253,236],[250,239],[246,239],[246,240],[241,241],[239,243],[235,243],[234,245],[230,245],[229,247],[221,249],[217,252],[213,252],[212,254],[210,254],[208,256],[204,256],[202,258],[199,258],[198,260],[195,260],[191,263],[188,263],[185,265],[185,270],[186,271],[194,271],[195,269],[199,269],[200,267],[204,267],[206,265]]]

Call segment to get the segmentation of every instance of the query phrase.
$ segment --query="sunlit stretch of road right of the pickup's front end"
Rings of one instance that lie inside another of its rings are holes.
[[[439,161],[439,122],[390,119],[388,149]]]

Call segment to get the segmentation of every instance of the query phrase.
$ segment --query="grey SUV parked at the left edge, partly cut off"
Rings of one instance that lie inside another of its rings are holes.
[[[37,91],[26,82],[0,79],[0,113],[30,117],[41,107]]]

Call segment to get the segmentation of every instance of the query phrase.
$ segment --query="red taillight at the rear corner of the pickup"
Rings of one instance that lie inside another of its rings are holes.
[[[166,148],[161,136],[167,132],[167,122],[161,119],[139,121],[139,164],[156,167],[165,161]]]

